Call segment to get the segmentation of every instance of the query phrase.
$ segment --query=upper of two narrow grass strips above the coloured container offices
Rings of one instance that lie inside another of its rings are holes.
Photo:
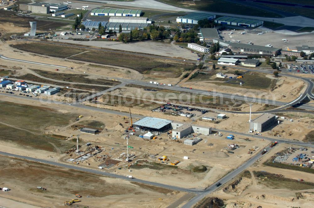
[[[95,85],[118,85],[121,84],[119,81],[112,81],[106,79],[89,79],[87,78],[88,75],[81,75],[81,74],[64,74],[64,73],[57,73],[57,72],[50,72],[50,71],[43,71],[43,70],[36,70],[34,69],[37,74],[51,78],[57,79],[62,81],[68,82],[78,82],[78,83],[88,83],[88,84],[95,84]]]

